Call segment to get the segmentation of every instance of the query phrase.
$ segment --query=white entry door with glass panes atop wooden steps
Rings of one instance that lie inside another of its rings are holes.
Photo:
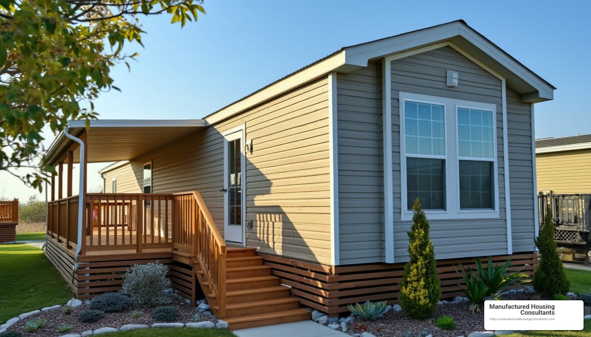
[[[244,127],[224,134],[224,240],[244,244]]]

